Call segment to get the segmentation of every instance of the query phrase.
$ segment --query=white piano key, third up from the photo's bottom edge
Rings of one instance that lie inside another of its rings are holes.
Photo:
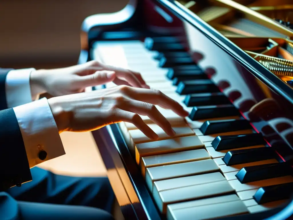
[[[154,194],[153,196],[160,212],[165,214],[168,204],[191,199],[201,199],[209,196],[218,196],[233,191],[234,189],[229,185],[228,181],[222,180],[201,185],[192,185],[176,189],[163,190],[158,194]]]

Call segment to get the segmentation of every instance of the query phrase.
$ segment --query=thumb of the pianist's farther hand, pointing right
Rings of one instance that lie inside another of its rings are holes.
[[[114,71],[97,71],[91,75],[81,77],[81,83],[84,87],[102,85],[112,82],[116,78]]]

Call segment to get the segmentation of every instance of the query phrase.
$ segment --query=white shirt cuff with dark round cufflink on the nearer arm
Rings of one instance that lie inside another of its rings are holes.
[[[17,106],[13,110],[21,130],[30,167],[65,154],[46,98]],[[41,150],[47,152],[45,160],[40,160],[38,157]]]

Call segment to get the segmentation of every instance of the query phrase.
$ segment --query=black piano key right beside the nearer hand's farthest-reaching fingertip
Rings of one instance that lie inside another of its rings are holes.
[[[195,121],[200,119],[220,118],[237,115],[239,115],[239,111],[232,104],[226,104],[193,107],[188,117]]]

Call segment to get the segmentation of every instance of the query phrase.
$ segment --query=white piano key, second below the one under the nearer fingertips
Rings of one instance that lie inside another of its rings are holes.
[[[206,160],[210,158],[211,156],[209,155],[209,153],[207,153],[205,149],[186,150],[176,153],[142,157],[140,166],[142,170],[142,175],[144,177],[145,169],[149,167],[157,167],[175,163],[185,163],[197,160]]]

